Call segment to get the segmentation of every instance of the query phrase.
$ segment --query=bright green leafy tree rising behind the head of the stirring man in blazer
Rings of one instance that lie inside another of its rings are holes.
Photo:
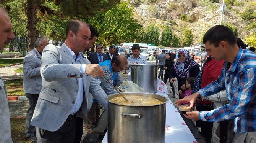
[[[122,2],[103,14],[97,14],[88,22],[99,31],[97,42],[104,47],[124,41],[135,41],[142,27],[133,18],[133,8],[130,8],[127,2]]]

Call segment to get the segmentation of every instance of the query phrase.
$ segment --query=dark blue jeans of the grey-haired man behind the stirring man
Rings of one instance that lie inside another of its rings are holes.
[[[25,94],[29,101],[29,108],[26,116],[25,135],[26,137],[29,138],[36,135],[36,129],[34,126],[30,125],[30,122],[34,114],[34,110],[36,107],[39,94],[29,94],[29,93],[25,93]]]

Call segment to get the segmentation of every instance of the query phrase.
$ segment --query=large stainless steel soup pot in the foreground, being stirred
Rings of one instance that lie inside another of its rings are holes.
[[[123,95],[154,97],[164,103],[154,106],[126,106],[108,101],[108,143],[164,143],[167,97],[152,93],[125,92]]]

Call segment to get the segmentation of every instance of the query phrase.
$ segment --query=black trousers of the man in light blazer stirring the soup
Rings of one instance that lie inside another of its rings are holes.
[[[50,132],[36,127],[37,143],[72,143],[76,132],[76,117],[66,119],[60,129]]]

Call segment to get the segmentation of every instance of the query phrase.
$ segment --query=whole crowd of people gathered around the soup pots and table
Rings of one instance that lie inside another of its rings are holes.
[[[2,50],[14,38],[10,17],[3,8],[0,24]],[[35,48],[24,57],[23,84],[29,99],[25,135],[29,140],[79,143],[83,121],[90,130],[99,119],[100,105],[108,108],[105,97],[117,93],[106,80],[119,86],[123,82],[122,70],[128,70],[130,80],[129,64],[147,64],[138,44],[132,46],[131,56],[127,51],[118,55],[115,46],[104,54],[102,44],[96,44],[96,52],[86,59],[83,52],[92,47],[97,37],[99,33],[93,25],[73,20],[66,27],[65,43],[55,46],[45,37],[38,37]],[[173,53],[156,52],[158,78],[165,84],[169,79],[173,97],[177,80],[177,104],[193,108],[184,116],[197,121],[207,143],[217,134],[221,143],[255,141],[255,48],[250,48],[254,52],[242,49],[245,44],[240,46],[232,30],[222,25],[209,29],[203,43],[208,57],[205,53],[201,55],[201,66],[186,49],[178,51],[177,62]],[[223,106],[215,108],[216,101]],[[0,143],[12,143],[6,86],[1,77],[0,103]],[[219,130],[214,128],[215,122],[219,122]]]

